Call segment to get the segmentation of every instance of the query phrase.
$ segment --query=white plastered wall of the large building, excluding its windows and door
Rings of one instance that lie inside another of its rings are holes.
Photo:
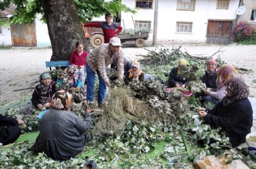
[[[135,8],[135,0],[122,0],[122,3],[130,8]],[[217,10],[216,0],[196,0],[194,11],[176,10],[176,6],[176,0],[159,0],[157,40],[204,42],[208,19],[237,19],[236,10],[239,0],[231,0],[228,10]],[[153,29],[154,6],[153,9],[139,9],[136,14],[122,12],[122,19],[124,19],[122,26],[125,26],[126,29],[134,28],[132,17],[135,21],[151,21],[151,29]],[[177,21],[192,22],[192,33],[176,32]],[[152,34],[150,38],[152,38]]]

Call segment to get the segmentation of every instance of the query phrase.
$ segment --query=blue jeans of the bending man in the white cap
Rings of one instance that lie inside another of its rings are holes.
[[[98,93],[98,103],[102,103],[106,97],[106,83],[100,76],[99,70],[96,71],[99,77],[99,93]],[[94,96],[94,85],[95,85],[95,72],[91,70],[90,66],[86,63],[86,74],[87,74],[87,91],[86,97],[87,101],[93,102]]]

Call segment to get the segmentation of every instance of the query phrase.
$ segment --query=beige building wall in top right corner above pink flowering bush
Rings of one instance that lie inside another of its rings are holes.
[[[252,10],[256,10],[256,0],[243,0],[243,3],[246,6],[246,11],[238,16],[237,23],[246,21],[256,25],[256,22],[250,21]]]

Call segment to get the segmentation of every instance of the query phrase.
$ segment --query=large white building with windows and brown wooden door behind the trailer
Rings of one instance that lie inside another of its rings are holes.
[[[154,0],[122,0],[122,3],[129,8],[139,9],[136,14],[122,12],[122,21],[124,21],[122,26],[125,29],[134,27],[153,29]],[[146,3],[148,6],[145,6]],[[225,34],[224,37],[229,34],[231,39],[238,7],[239,0],[159,0],[157,41],[216,41],[216,38],[207,40],[207,36],[215,36],[218,32]],[[231,23],[226,26],[226,23],[219,22]],[[222,28],[215,30],[216,26]]]

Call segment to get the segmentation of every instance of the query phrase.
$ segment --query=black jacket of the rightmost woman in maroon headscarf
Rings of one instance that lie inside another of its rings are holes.
[[[221,102],[204,119],[211,126],[222,127],[230,143],[235,147],[246,142],[246,135],[251,132],[253,110],[248,98],[234,101],[228,106]]]

